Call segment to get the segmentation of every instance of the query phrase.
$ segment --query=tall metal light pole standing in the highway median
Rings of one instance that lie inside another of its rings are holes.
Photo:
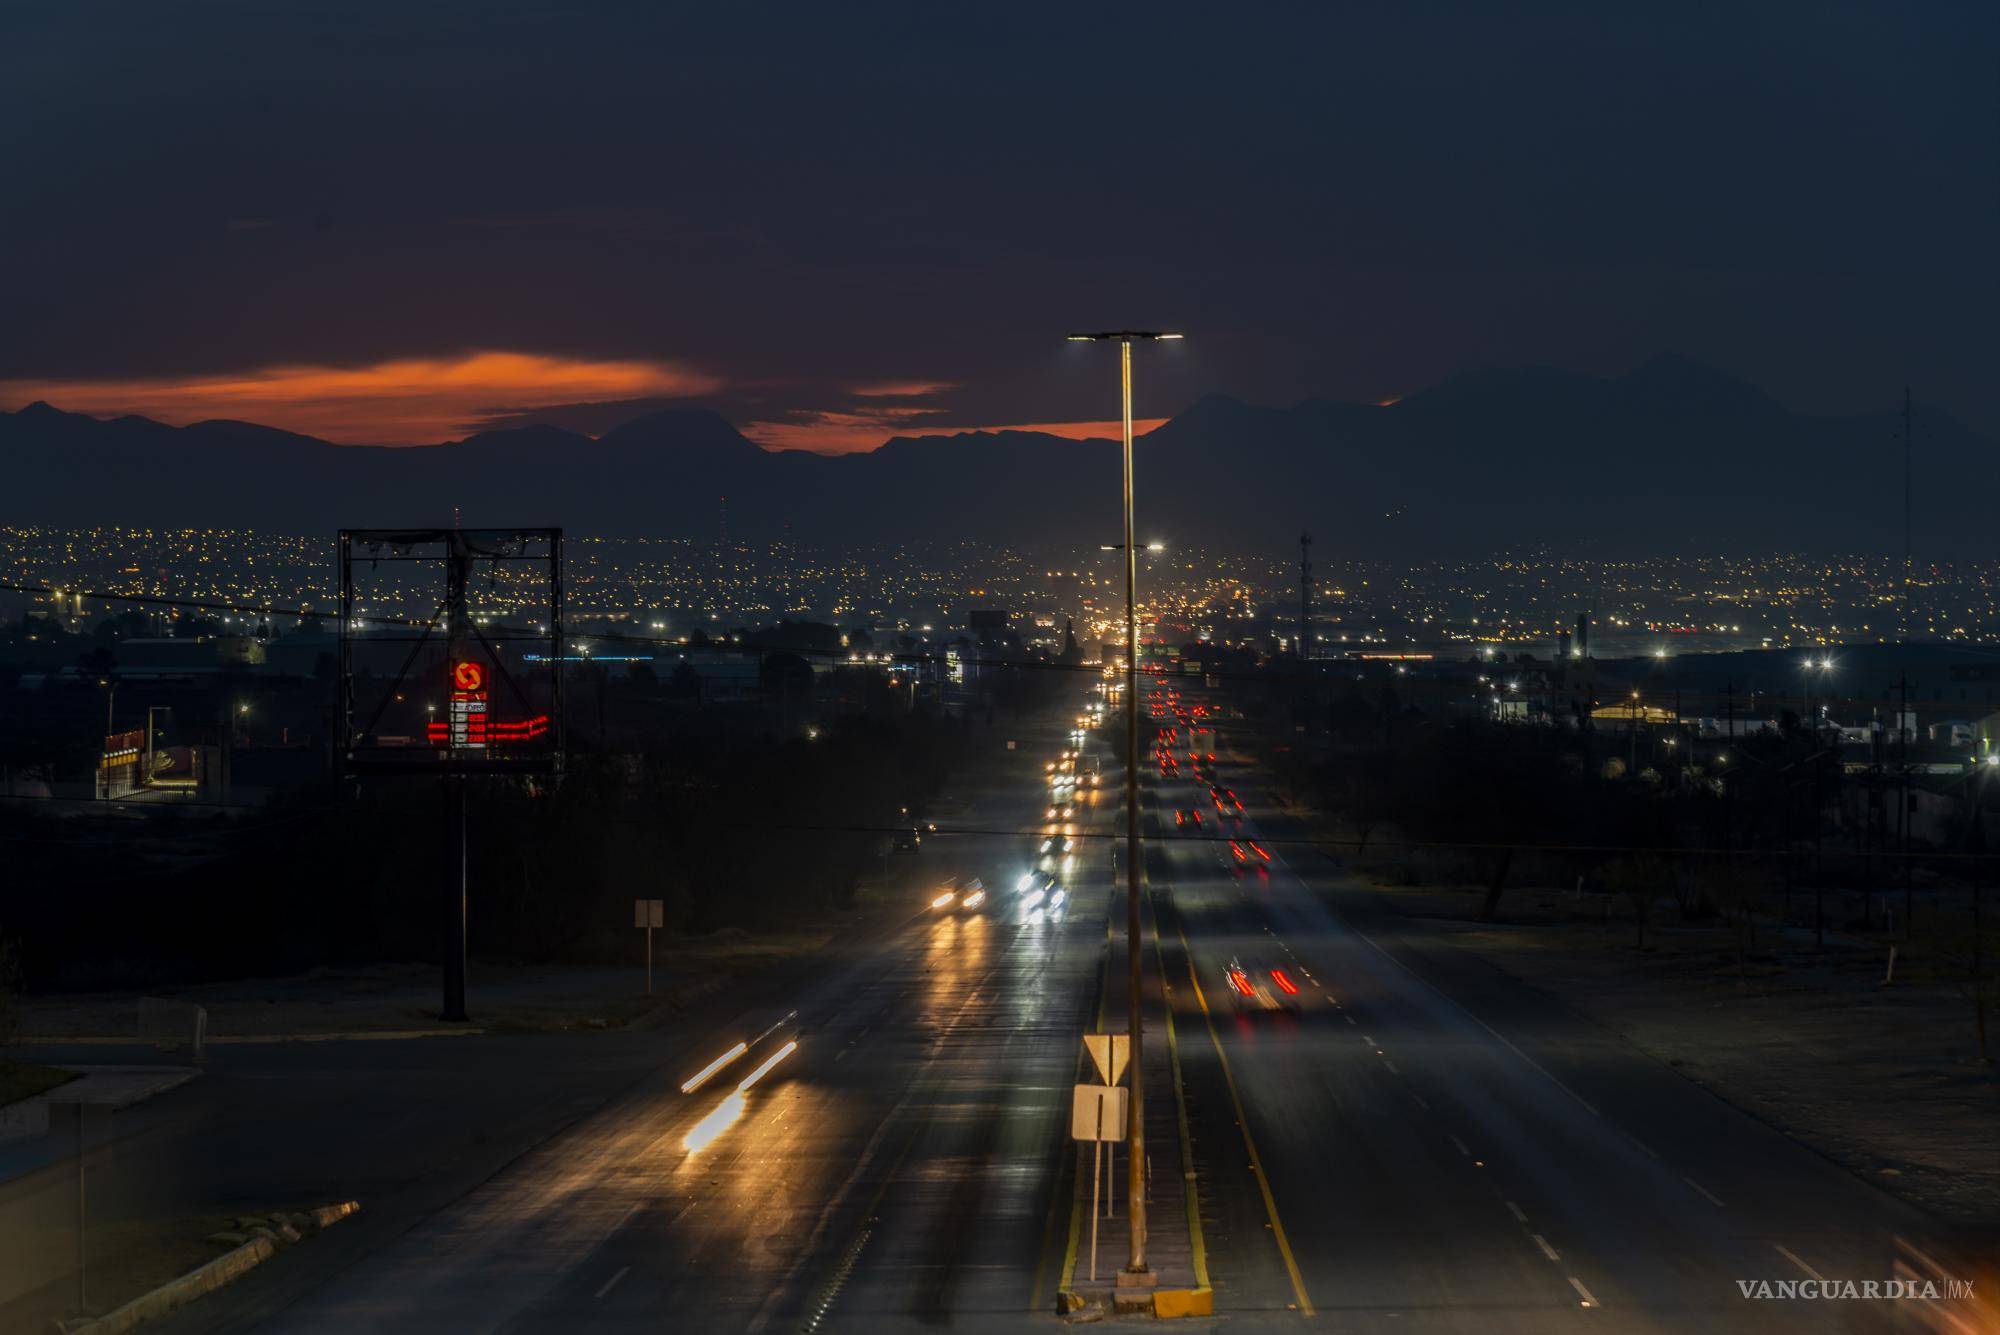
[[[1070,342],[1118,344],[1118,390],[1124,440],[1124,558],[1126,558],[1126,1025],[1132,1035],[1132,1103],[1126,1121],[1126,1227],[1132,1249],[1126,1275],[1144,1281],[1146,1269],[1146,1067],[1140,1025],[1140,913],[1138,913],[1138,542],[1132,532],[1132,342],[1182,338],[1158,330],[1070,334]]]

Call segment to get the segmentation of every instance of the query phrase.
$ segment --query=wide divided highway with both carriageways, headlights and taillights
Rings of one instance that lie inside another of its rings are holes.
[[[1060,833],[1066,719],[940,823]],[[930,839],[898,859],[906,913],[658,1033],[636,1087],[312,1285],[164,1329],[1054,1325],[1076,1039],[1122,921],[1104,771],[1076,801],[1100,837],[1058,865],[1064,911],[1024,897],[1032,839]],[[1214,1329],[1930,1329],[1744,1299],[1740,1281],[1888,1279],[1896,1239],[1932,1225],[1286,843],[1226,745],[1214,783],[1244,809],[1154,765],[1142,811]],[[974,875],[976,911],[928,903]]]

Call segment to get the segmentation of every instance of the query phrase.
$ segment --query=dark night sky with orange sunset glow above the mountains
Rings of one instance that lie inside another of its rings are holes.
[[[1674,350],[2000,432],[2000,6],[8,4],[0,408],[776,446]],[[1102,426],[1098,428],[1102,430]]]

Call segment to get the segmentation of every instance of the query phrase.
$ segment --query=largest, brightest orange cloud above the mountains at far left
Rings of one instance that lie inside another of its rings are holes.
[[[430,444],[486,418],[544,404],[714,394],[714,376],[648,360],[468,352],[372,366],[264,366],[230,376],[0,380],[14,408],[48,400],[72,412],[140,414],[186,424],[242,418],[348,444]]]

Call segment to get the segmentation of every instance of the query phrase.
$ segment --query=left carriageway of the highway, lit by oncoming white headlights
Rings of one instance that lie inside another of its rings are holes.
[[[1020,745],[1024,773],[952,823],[1044,823],[1040,763],[1066,741]],[[1076,821],[1108,825],[1098,801]],[[1080,841],[1066,873],[1100,891],[1056,913],[1016,889],[1032,851],[928,841],[926,877],[978,875],[980,911],[914,903],[744,997],[638,1087],[256,1329],[1018,1329],[1054,1303],[1076,1035],[1108,909],[1102,841]],[[682,1093],[738,1039],[742,1057]]]

